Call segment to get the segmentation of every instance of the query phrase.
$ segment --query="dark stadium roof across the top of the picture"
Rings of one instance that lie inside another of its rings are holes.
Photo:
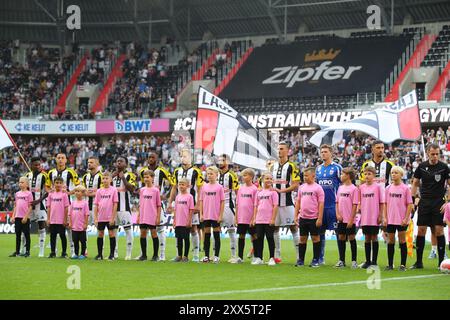
[[[215,38],[364,28],[367,7],[380,6],[390,22],[392,0],[2,0],[0,39],[58,43],[65,29],[65,10],[81,9],[78,42],[132,41],[166,35],[178,40],[201,40],[206,31]],[[393,0],[394,23],[406,16],[414,24],[449,20],[448,0]],[[285,8],[287,7],[287,8]],[[286,10],[285,10],[286,9]],[[59,14],[58,14],[59,12]],[[60,16],[60,18],[58,17]],[[59,23],[58,23],[59,21]],[[57,25],[60,26],[60,31]],[[66,39],[73,34],[66,30]]]

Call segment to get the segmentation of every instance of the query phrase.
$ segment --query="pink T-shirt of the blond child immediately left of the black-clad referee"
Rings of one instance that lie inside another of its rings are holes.
[[[401,225],[406,217],[406,209],[412,203],[411,190],[404,183],[396,186],[390,184],[386,188],[386,210],[388,224]],[[407,222],[411,216],[407,217]]]

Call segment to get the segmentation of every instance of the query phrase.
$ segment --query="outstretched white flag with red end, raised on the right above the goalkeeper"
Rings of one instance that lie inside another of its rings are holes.
[[[416,91],[411,91],[399,100],[377,110],[364,113],[350,121],[328,125],[317,123],[321,130],[309,140],[312,144],[337,144],[342,141],[346,131],[360,131],[383,141],[414,141],[420,139],[419,106]]]

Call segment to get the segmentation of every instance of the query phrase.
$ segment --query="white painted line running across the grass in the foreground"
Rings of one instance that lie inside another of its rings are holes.
[[[428,274],[422,276],[411,276],[411,277],[394,277],[380,279],[382,282],[386,281],[401,281],[401,280],[412,280],[412,279],[427,279],[444,276],[444,274]],[[447,275],[448,276],[448,275]],[[349,281],[349,282],[332,282],[332,283],[320,283],[320,284],[307,284],[302,286],[291,286],[291,287],[279,287],[279,288],[260,288],[260,289],[249,289],[249,290],[228,290],[228,291],[218,291],[218,292],[199,292],[199,293],[188,293],[188,294],[178,294],[178,295],[168,295],[159,297],[150,297],[142,299],[131,299],[131,300],[168,300],[168,299],[189,299],[196,297],[208,297],[208,296],[224,296],[230,294],[239,293],[258,293],[258,292],[271,292],[271,291],[284,291],[293,289],[310,289],[310,288],[321,288],[321,287],[337,287],[337,286],[349,286],[355,284],[366,284],[367,280],[359,281]]]

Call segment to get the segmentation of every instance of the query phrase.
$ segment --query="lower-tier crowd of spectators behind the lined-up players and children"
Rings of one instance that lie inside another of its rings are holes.
[[[299,130],[283,131],[280,141],[287,140],[291,143],[290,160],[295,162],[300,169],[308,166],[317,166],[320,157],[317,148],[309,144],[308,138],[311,132]],[[449,163],[450,158],[450,127],[444,130],[429,129],[424,132],[424,142],[438,143],[442,150],[443,161]],[[81,177],[87,168],[87,160],[90,156],[97,156],[103,170],[112,169],[113,159],[117,155],[128,158],[129,167],[134,172],[139,171],[147,163],[150,151],[156,151],[163,166],[171,171],[180,164],[179,151],[191,146],[191,138],[182,135],[168,136],[112,136],[109,138],[47,138],[24,137],[16,138],[17,145],[25,159],[34,156],[42,158],[42,168],[49,170],[55,167],[55,157],[58,152],[67,154],[68,166],[77,170]],[[351,136],[335,147],[334,160],[343,167],[353,166],[359,170],[362,163],[371,158],[372,138],[364,136]],[[418,164],[423,161],[423,149],[419,142],[400,142],[386,146],[386,156],[394,163],[406,168],[405,181],[412,177],[412,173]],[[275,155],[276,157],[276,155]],[[201,161],[201,156],[194,156],[194,163],[203,170],[206,165],[213,162],[211,158]],[[202,163],[203,162],[203,163]],[[234,165],[237,172],[241,169]],[[12,209],[11,196],[18,189],[18,178],[26,171],[25,166],[13,148],[7,148],[0,152],[0,211]]]

